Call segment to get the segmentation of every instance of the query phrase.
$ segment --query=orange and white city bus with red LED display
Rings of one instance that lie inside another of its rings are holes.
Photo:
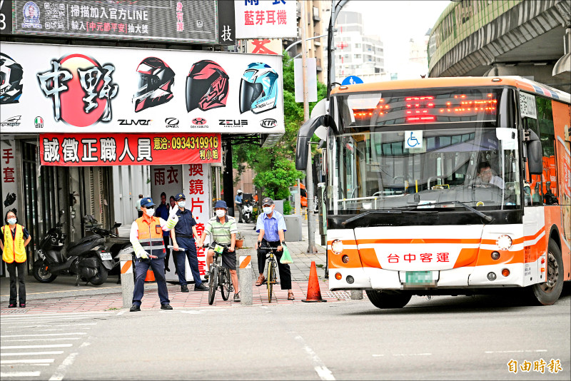
[[[550,305],[571,279],[570,94],[527,78],[338,86],[325,127],[330,290],[378,308],[412,295],[521,288]]]

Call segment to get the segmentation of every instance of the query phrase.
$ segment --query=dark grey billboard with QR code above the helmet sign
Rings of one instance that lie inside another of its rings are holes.
[[[12,23],[9,25],[9,31],[34,36],[232,45],[235,39],[233,4],[218,6],[218,2],[13,0],[14,23],[13,27]],[[223,14],[232,17],[223,17]],[[226,21],[222,26],[221,34],[219,19],[231,19],[231,23]]]

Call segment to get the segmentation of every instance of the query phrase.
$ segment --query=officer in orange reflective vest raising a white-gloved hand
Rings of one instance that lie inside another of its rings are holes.
[[[133,305],[131,312],[141,310],[141,299],[145,291],[145,277],[148,268],[153,269],[158,288],[158,298],[161,300],[161,310],[172,310],[168,300],[168,290],[165,280],[166,248],[163,241],[163,231],[174,228],[178,221],[176,208],[171,210],[168,220],[155,217],[155,203],[150,197],[141,198],[143,217],[137,218],[131,225],[129,238],[137,256],[135,264],[135,290],[133,290]]]

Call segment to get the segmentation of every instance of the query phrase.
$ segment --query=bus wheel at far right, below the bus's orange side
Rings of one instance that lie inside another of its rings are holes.
[[[545,282],[532,285],[530,290],[531,301],[536,305],[552,305],[563,290],[563,260],[554,240],[549,240],[545,267]]]

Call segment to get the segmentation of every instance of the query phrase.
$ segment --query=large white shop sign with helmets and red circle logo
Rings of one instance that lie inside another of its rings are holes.
[[[0,50],[9,73],[1,115],[20,117],[4,133],[284,132],[281,56],[6,42]]]

